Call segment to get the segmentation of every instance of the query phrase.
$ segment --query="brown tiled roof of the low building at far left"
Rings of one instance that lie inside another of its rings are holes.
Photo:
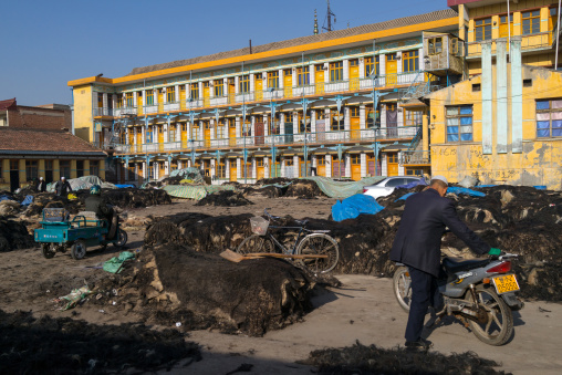
[[[0,127],[2,154],[106,157],[100,148],[69,132],[10,127]]]

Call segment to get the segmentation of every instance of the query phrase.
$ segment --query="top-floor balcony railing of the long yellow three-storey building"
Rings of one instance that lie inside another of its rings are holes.
[[[156,113],[188,111],[189,108],[200,110],[204,107],[212,107],[228,104],[254,103],[254,102],[264,102],[264,104],[267,104],[270,101],[283,98],[299,100],[300,97],[303,96],[303,92],[304,96],[310,96],[310,95],[335,94],[342,92],[371,91],[373,90],[373,84],[378,90],[406,87],[412,84],[420,83],[418,73],[419,72],[416,71],[416,72],[386,74],[377,76],[375,80],[366,77],[336,82],[319,82],[304,86],[301,85],[283,88],[266,88],[260,91],[250,91],[247,93],[201,97],[192,100],[191,102],[186,100],[173,103],[149,104],[140,107],[137,106],[127,106],[121,108],[97,107],[94,108],[94,116],[118,117],[124,115],[147,115]],[[416,80],[416,77],[418,79]],[[427,77],[424,77],[424,80],[427,80]]]

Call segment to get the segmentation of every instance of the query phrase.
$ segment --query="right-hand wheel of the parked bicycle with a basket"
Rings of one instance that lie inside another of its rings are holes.
[[[296,253],[303,256],[327,256],[327,258],[303,259],[302,262],[314,273],[325,273],[334,269],[340,260],[337,242],[324,233],[312,233],[302,239]]]

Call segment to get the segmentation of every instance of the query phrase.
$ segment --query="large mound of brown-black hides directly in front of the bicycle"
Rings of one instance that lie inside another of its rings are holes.
[[[185,244],[145,247],[125,265],[119,305],[148,323],[259,336],[312,310],[305,270],[278,259],[232,263]],[[180,323],[180,324],[176,324]]]

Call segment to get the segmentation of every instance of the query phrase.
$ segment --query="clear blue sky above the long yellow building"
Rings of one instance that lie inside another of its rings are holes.
[[[326,0],[6,0],[0,100],[72,104],[67,82],[311,35]],[[447,9],[447,0],[331,0],[333,30]]]

